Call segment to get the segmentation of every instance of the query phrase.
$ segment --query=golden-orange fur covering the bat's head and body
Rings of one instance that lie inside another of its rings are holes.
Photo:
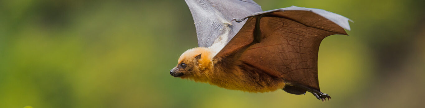
[[[201,58],[196,59],[195,57],[199,54],[201,54]],[[181,63],[187,65],[178,69],[178,72],[184,73],[181,78],[205,82],[226,89],[270,92],[283,89],[285,86],[283,79],[269,76],[238,60],[222,62],[220,58],[212,57],[211,49],[205,47],[185,51],[178,59],[176,67],[179,67]]]

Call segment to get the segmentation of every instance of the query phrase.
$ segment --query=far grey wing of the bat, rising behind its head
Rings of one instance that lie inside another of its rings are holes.
[[[215,41],[229,42],[244,25],[232,19],[262,11],[252,0],[184,1],[192,13],[200,47],[210,47]]]

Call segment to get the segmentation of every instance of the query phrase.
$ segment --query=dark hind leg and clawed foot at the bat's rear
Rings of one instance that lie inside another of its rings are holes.
[[[326,101],[326,98],[328,98],[328,100],[331,99],[331,96],[328,94],[322,93],[320,90],[314,89],[312,87],[303,86],[301,84],[287,84],[283,90],[290,94],[305,94],[306,91],[311,92],[318,100],[322,100],[323,102]]]

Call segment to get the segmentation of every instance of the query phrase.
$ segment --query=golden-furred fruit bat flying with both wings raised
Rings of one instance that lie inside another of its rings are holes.
[[[198,47],[185,51],[170,74],[226,89],[291,94],[320,92],[317,54],[329,35],[347,35],[346,17],[296,6],[262,11],[252,0],[185,0]]]

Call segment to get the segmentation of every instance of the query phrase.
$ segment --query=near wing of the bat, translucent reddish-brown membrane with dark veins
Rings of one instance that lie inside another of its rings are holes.
[[[238,60],[264,73],[320,91],[317,54],[329,35],[347,35],[347,18],[320,9],[289,7],[254,13],[215,56]],[[305,91],[304,91],[305,92]]]

